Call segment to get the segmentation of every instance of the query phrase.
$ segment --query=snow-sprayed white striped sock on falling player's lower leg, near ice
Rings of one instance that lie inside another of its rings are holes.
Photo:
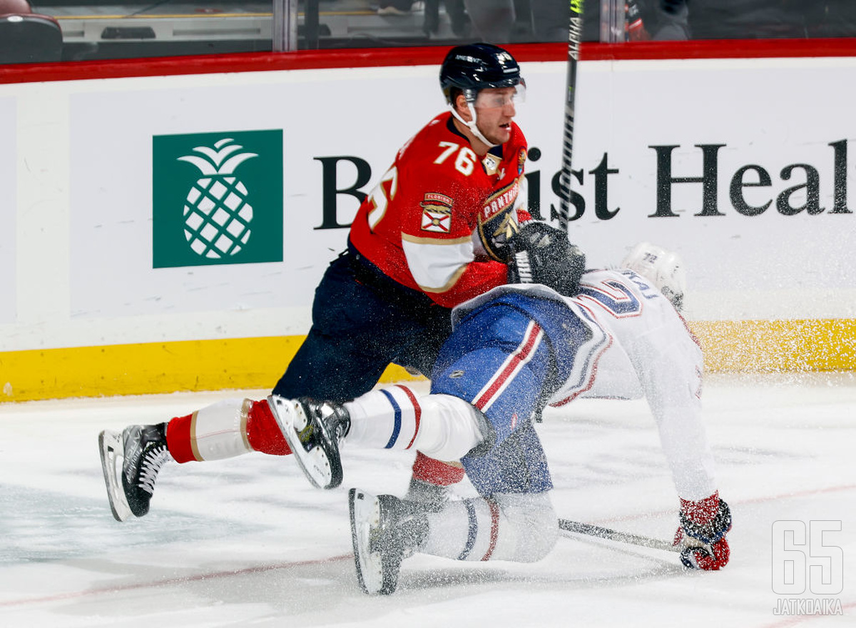
[[[450,559],[534,562],[550,552],[559,535],[547,493],[452,501],[427,517],[429,534],[419,552]]]

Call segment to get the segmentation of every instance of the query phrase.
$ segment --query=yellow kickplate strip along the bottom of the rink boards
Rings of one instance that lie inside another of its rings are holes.
[[[709,372],[856,370],[856,320],[693,321]],[[0,352],[0,402],[270,389],[303,336]],[[384,383],[420,380],[390,365]]]

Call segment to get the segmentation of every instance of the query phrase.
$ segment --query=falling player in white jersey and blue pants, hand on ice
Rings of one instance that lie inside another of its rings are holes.
[[[347,440],[460,459],[479,492],[429,505],[352,489],[354,558],[367,593],[394,591],[401,560],[415,552],[524,562],[550,552],[558,521],[532,418],[545,404],[580,396],[647,398],[679,498],[681,561],[704,570],[728,562],[731,514],[701,418],[702,353],[675,307],[684,290],[680,260],[641,244],[623,267],[586,272],[570,297],[544,285],[556,284],[555,259],[549,272],[537,256],[527,262],[541,284],[501,286],[455,309],[431,394],[391,386],[345,404],[270,398],[319,487],[342,480],[338,442]]]

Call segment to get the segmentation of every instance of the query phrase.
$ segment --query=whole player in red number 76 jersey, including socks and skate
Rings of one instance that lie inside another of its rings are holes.
[[[273,393],[345,401],[390,362],[430,373],[458,303],[508,279],[508,238],[523,205],[526,139],[514,123],[525,83],[508,51],[456,46],[440,85],[449,111],[396,153],[360,206],[348,248],[315,293],[312,328]],[[528,223],[533,234],[550,230]],[[526,228],[526,227],[525,227]],[[266,400],[228,399],[167,423],[100,434],[114,516],[149,509],[158,471],[246,452],[290,453]],[[458,481],[460,464],[421,454],[414,487]]]

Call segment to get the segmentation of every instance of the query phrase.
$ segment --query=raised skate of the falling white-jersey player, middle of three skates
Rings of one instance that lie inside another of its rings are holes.
[[[342,484],[339,441],[351,428],[348,410],[342,404],[306,397],[270,395],[268,404],[294,459],[312,485],[336,488]]]

